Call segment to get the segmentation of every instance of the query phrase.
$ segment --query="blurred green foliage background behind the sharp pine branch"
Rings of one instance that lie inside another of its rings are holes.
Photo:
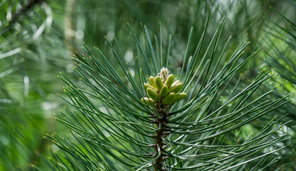
[[[149,33],[153,35],[159,31],[159,21],[162,21],[164,42],[169,40],[169,34],[173,35],[170,56],[176,63],[170,68],[181,69],[181,58],[191,26],[194,31],[189,53],[194,53],[211,6],[210,24],[215,25],[226,16],[225,36],[221,37],[221,42],[225,43],[229,35],[233,39],[226,54],[232,53],[231,49],[235,49],[245,33],[248,33],[247,38],[250,41],[250,46],[245,49],[246,53],[250,54],[260,46],[265,46],[266,52],[260,53],[259,58],[245,66],[241,80],[248,83],[260,69],[273,68],[276,76],[265,86],[277,86],[273,93],[274,98],[292,93],[292,103],[265,118],[268,120],[274,115],[290,113],[285,121],[292,122],[282,132],[292,135],[292,139],[286,143],[294,146],[281,151],[282,157],[278,158],[278,165],[292,170],[292,166],[296,165],[293,156],[296,152],[295,4],[295,0],[1,1],[0,170],[31,170],[31,164],[48,170],[49,165],[53,164],[47,165],[48,161],[44,158],[50,155],[49,148],[58,148],[43,140],[43,135],[55,131],[65,136],[68,133],[65,127],[56,123],[52,115],[63,108],[64,104],[56,95],[63,90],[63,83],[56,75],[58,71],[63,71],[69,73],[68,76],[73,76],[72,81],[78,80],[74,74],[70,74],[73,73],[73,61],[70,57],[75,51],[80,52],[83,41],[89,46],[98,46],[111,53],[103,37],[107,36],[113,41],[115,36],[124,45],[123,53],[130,53],[136,51],[136,46],[127,22],[135,33],[141,33],[139,23],[146,24]],[[208,34],[213,35],[214,31],[209,29]],[[211,40],[205,41],[209,43]],[[164,46],[167,44],[164,43]],[[218,51],[222,48],[218,47]],[[132,62],[128,65],[135,67]],[[264,125],[265,119],[258,120],[257,124]],[[252,126],[257,128],[257,124]],[[250,128],[242,130],[248,132]],[[270,169],[275,170],[278,165],[273,165]]]

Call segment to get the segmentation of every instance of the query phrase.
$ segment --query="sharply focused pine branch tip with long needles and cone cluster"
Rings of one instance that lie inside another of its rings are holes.
[[[281,142],[287,140],[286,135],[276,134],[285,125],[280,123],[282,118],[275,116],[259,130],[252,130],[248,125],[287,103],[287,97],[269,100],[273,90],[253,97],[270,78],[269,71],[259,73],[246,86],[240,83],[240,68],[258,51],[244,56],[248,42],[243,41],[233,53],[225,53],[231,38],[220,41],[224,24],[222,20],[215,34],[209,37],[207,21],[193,54],[188,51],[192,46],[191,29],[183,66],[180,71],[171,69],[171,74],[167,69],[174,66],[171,36],[167,38],[164,56],[162,28],[155,41],[146,26],[143,26],[144,37],[137,37],[131,28],[137,46],[134,72],[125,63],[116,39],[110,42],[106,38],[113,56],[85,46],[85,54],[73,57],[74,70],[83,84],[73,84],[63,73],[59,76],[66,84],[67,95],[60,97],[68,105],[56,119],[70,129],[72,136],[46,137],[65,152],[53,155],[55,167],[259,170],[272,165],[275,158],[270,154],[285,147]],[[211,42],[204,43],[205,38]],[[121,68],[114,67],[113,59]],[[120,75],[119,70],[125,75]]]

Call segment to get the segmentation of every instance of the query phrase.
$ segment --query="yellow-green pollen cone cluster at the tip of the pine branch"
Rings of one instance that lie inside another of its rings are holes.
[[[144,84],[145,90],[149,98],[142,98],[142,102],[148,104],[156,103],[160,105],[171,105],[186,97],[186,93],[179,93],[183,84],[180,81],[174,81],[174,75],[169,74],[166,68],[162,68],[160,76],[150,76],[149,83]]]

